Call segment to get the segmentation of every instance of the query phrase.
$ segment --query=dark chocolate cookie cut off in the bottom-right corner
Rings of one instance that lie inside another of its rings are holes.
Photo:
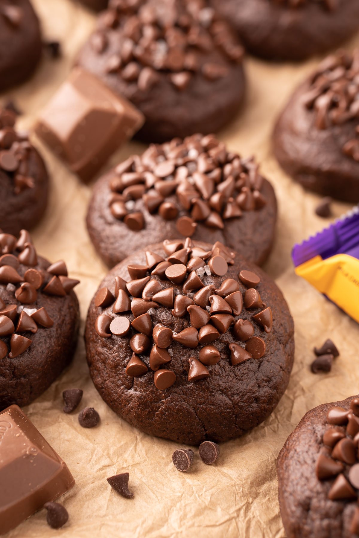
[[[287,538],[359,536],[359,398],[309,411],[278,456]]]

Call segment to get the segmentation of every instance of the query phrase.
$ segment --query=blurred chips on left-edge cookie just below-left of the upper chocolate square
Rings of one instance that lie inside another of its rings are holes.
[[[28,175],[32,146],[23,134],[15,130],[15,122],[15,112],[0,108],[0,171],[11,178],[13,192],[18,195],[33,188],[35,179]]]

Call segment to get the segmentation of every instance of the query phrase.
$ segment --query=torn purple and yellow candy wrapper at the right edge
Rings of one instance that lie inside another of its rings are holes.
[[[295,245],[295,273],[359,323],[359,206]]]

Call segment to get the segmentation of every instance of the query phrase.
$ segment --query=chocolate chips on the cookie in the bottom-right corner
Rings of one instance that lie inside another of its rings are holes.
[[[353,398],[349,410],[332,407],[327,413],[328,427],[323,448],[316,462],[319,480],[332,480],[328,499],[358,500],[359,492],[359,398]],[[350,533],[359,535],[359,507],[355,508]]]

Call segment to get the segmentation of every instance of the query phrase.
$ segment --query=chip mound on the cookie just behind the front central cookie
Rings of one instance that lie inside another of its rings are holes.
[[[192,237],[198,223],[223,229],[228,218],[261,210],[266,203],[262,183],[253,159],[228,152],[213,135],[194,134],[152,144],[140,157],[134,155],[117,166],[109,182],[109,207],[112,216],[131,230],[144,228],[147,212],[159,213],[164,220],[177,219],[179,233]],[[186,265],[185,258],[179,263]],[[216,255],[208,265],[214,274],[227,272]],[[258,284],[258,277],[247,273]]]

